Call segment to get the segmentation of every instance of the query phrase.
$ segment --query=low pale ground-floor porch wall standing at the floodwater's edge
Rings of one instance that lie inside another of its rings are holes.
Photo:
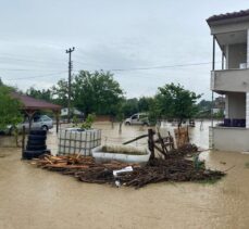
[[[233,127],[213,127],[212,148],[220,151],[249,151],[249,129]]]

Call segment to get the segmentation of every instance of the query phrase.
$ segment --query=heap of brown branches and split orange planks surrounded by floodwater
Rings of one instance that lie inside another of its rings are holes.
[[[82,155],[42,155],[39,160],[33,161],[33,164],[45,169],[72,175],[84,182],[110,185],[119,182],[121,186],[135,188],[161,181],[215,181],[225,175],[222,171],[206,169],[203,163],[186,158],[186,155],[196,155],[196,153],[195,145],[186,145],[169,152],[164,160],[150,160],[144,167],[121,162],[96,163],[94,157]],[[126,166],[132,166],[133,171],[113,176],[113,170]]]

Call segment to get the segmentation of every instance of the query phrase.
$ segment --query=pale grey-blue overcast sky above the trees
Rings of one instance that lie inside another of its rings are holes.
[[[211,62],[206,20],[249,8],[248,0],[0,2],[0,77],[5,84],[22,90],[51,87],[67,78],[65,49],[75,47],[75,74],[113,69],[127,98],[152,96],[173,81],[211,99],[211,64],[153,67]],[[139,67],[152,69],[130,69]]]

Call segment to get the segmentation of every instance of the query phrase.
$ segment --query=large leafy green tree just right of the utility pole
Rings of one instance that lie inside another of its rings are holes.
[[[74,105],[86,115],[96,113],[115,116],[123,100],[123,90],[110,72],[80,71],[72,84]]]

